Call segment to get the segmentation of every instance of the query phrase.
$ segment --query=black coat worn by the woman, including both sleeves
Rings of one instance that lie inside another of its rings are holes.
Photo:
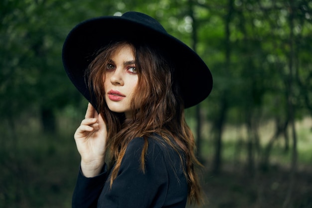
[[[141,169],[143,138],[133,139],[110,189],[106,165],[102,173],[86,178],[81,170],[73,194],[73,208],[185,208],[187,181],[176,151],[149,138],[145,174]]]

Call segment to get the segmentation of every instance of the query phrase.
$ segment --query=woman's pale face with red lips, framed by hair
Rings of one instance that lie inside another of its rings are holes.
[[[130,45],[118,49],[106,66],[105,101],[111,111],[131,117],[131,101],[138,84],[135,57]]]

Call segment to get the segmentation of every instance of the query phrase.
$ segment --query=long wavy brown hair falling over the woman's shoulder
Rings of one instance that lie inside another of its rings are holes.
[[[132,119],[122,113],[112,112],[104,99],[104,77],[106,66],[112,55],[125,44],[131,46],[135,56],[138,85],[133,96]],[[174,65],[169,62],[164,51],[156,46],[140,42],[116,41],[102,48],[87,70],[89,89],[98,106],[98,112],[107,124],[110,162],[112,169],[110,184],[117,177],[127,145],[135,137],[143,137],[145,145],[141,154],[141,168],[145,172],[145,155],[148,137],[161,136],[168,148],[179,154],[181,164],[185,164],[184,174],[188,183],[190,204],[202,202],[195,166],[200,166],[194,149],[194,136],[184,119],[184,105],[178,83],[174,77]],[[136,109],[135,104],[140,108]],[[182,152],[182,153],[181,153]],[[183,154],[183,155],[182,155]],[[186,160],[186,161],[185,161]]]

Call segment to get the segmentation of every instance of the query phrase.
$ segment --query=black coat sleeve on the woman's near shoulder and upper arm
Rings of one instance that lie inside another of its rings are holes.
[[[149,142],[144,173],[140,161],[144,142],[143,138],[135,138],[129,143],[118,176],[111,189],[109,186],[104,188],[105,194],[101,194],[98,207],[162,207],[168,189],[163,152],[157,144]]]

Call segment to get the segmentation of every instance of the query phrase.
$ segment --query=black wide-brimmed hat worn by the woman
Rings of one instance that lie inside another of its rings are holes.
[[[186,44],[168,34],[156,19],[140,12],[129,11],[122,16],[102,16],[75,26],[63,45],[63,65],[75,87],[93,105],[85,71],[94,54],[113,40],[145,41],[169,54],[175,65],[176,77],[184,107],[203,101],[211,92],[212,75],[204,61]],[[92,93],[92,90],[91,90]]]

